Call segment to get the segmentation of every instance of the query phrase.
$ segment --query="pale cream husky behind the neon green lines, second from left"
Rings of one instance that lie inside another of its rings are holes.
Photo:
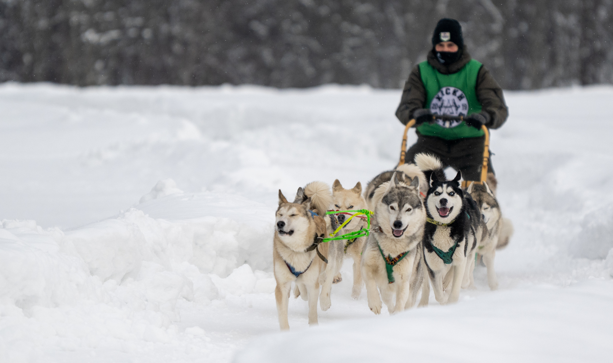
[[[359,210],[366,209],[366,201],[362,197],[362,183],[357,182],[356,186],[351,189],[343,188],[341,182],[337,179],[332,184],[332,199],[335,210]],[[338,213],[335,215],[338,225],[345,223],[351,216]],[[356,216],[349,223],[345,224],[338,234],[348,234],[351,232],[361,231],[368,227],[367,221],[364,218]],[[335,240],[330,241],[328,266],[326,267],[326,281],[322,284],[321,296],[319,299],[319,307],[321,310],[327,310],[330,307],[330,289],[332,283],[337,283],[342,280],[340,269],[343,265],[343,257],[349,255],[353,258],[353,287],[351,289],[351,298],[357,299],[362,292],[362,248],[366,242],[366,237],[358,237],[350,240]]]

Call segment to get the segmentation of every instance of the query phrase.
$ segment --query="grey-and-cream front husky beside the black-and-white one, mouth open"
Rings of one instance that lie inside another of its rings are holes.
[[[368,183],[364,193],[375,218],[361,267],[368,307],[375,314],[381,313],[381,299],[390,314],[413,307],[424,280],[421,241],[426,213],[419,195],[422,173],[416,168],[413,172],[417,175],[402,170],[383,172]]]

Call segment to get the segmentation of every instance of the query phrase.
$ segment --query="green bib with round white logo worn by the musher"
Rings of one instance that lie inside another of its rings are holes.
[[[454,74],[441,74],[428,61],[419,63],[419,73],[426,91],[424,108],[429,108],[435,115],[467,116],[481,112],[475,90],[479,69],[481,63],[474,59]],[[436,120],[432,124],[421,124],[417,130],[422,135],[445,140],[484,135],[483,130],[468,126],[464,121]]]

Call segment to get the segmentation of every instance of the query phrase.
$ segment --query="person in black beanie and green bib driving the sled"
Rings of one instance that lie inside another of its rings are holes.
[[[396,117],[403,124],[415,119],[417,142],[406,151],[406,162],[416,154],[438,156],[444,166],[462,172],[465,182],[481,180],[485,134],[482,125],[500,128],[508,116],[502,90],[490,72],[471,58],[464,47],[457,20],[438,21],[427,61],[417,64],[405,83]],[[464,116],[464,121],[436,120],[432,115]],[[497,180],[491,159],[487,184]]]

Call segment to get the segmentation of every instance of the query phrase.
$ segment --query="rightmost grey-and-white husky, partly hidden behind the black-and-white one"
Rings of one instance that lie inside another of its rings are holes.
[[[470,194],[479,206],[481,217],[489,231],[489,239],[485,239],[484,243],[477,245],[477,253],[483,256],[483,262],[487,267],[487,284],[490,289],[495,290],[498,288],[498,279],[494,271],[496,250],[498,244],[506,246],[509,243],[513,226],[510,220],[503,218],[498,200],[487,182],[483,182],[483,184],[471,183],[466,189],[466,193]],[[474,288],[473,270],[475,262],[475,259],[471,260],[470,281],[464,281],[462,287],[466,287],[465,285],[468,284],[468,287]]]

